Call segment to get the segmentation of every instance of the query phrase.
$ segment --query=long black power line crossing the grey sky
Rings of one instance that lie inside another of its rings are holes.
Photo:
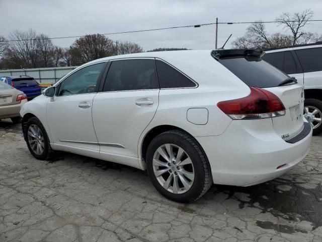
[[[321,22],[322,19],[317,20],[307,20],[306,22]],[[148,32],[148,31],[157,31],[157,30],[166,30],[166,29],[179,29],[179,28],[198,28],[201,26],[214,25],[214,24],[258,24],[258,23],[284,23],[284,22],[298,22],[298,21],[255,21],[255,22],[218,22],[218,23],[206,23],[206,24],[196,24],[196,25],[185,25],[185,26],[174,26],[167,28],[157,28],[157,29],[144,29],[144,30],[132,30],[132,31],[124,31],[124,32],[111,32],[100,35],[113,35],[113,34],[127,34],[127,33],[138,33],[138,32]],[[96,35],[96,34],[90,34]],[[87,35],[77,35],[77,36],[63,36],[63,37],[51,37],[51,38],[36,38],[36,39],[15,39],[15,40],[3,40],[1,42],[16,42],[16,41],[29,41],[29,40],[44,40],[44,39],[68,39],[68,38],[80,38],[85,37]]]

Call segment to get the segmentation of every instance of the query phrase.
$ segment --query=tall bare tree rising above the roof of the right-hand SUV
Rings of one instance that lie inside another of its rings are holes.
[[[276,18],[279,21],[279,26],[283,26],[284,29],[291,31],[294,44],[307,43],[307,33],[302,29],[308,24],[308,20],[313,17],[313,12],[310,9],[306,9],[302,13],[283,13]],[[305,38],[306,35],[306,38]]]

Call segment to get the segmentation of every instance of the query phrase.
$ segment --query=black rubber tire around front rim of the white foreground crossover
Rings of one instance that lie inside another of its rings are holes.
[[[41,154],[36,154],[32,148],[31,148],[31,145],[29,144],[28,142],[28,129],[31,125],[36,125],[39,127],[39,129],[41,130],[41,133],[43,135],[43,138],[44,138],[44,150]],[[27,146],[28,146],[28,149],[30,151],[30,153],[36,158],[36,159],[39,159],[39,160],[48,160],[52,157],[53,155],[53,150],[50,146],[50,141],[49,141],[49,138],[48,138],[48,135],[46,133],[46,130],[44,128],[44,126],[41,124],[40,120],[37,118],[37,117],[31,117],[28,119],[27,123],[26,123],[26,126],[25,126],[25,129],[24,129],[24,136],[25,136],[25,140],[26,140],[26,143],[27,143]]]

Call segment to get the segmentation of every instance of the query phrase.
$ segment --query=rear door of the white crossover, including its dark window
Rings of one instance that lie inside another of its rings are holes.
[[[93,100],[103,159],[138,166],[138,140],[155,114],[158,94],[153,58],[110,63],[102,91]]]

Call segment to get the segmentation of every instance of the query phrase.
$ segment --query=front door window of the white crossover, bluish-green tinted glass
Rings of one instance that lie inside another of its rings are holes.
[[[57,96],[95,92],[104,65],[105,63],[95,64],[74,72],[62,81]]]

